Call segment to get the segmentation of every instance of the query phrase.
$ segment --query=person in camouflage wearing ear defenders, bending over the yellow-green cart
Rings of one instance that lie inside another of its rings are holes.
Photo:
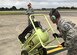
[[[62,37],[64,42],[61,43],[66,47],[67,55],[77,55],[77,26],[65,18],[61,18],[57,9],[52,9],[49,13],[51,21],[57,25],[60,34],[54,33],[54,37]]]

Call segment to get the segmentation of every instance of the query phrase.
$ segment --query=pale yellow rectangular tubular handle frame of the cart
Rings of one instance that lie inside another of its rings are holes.
[[[47,21],[47,23],[48,23],[48,25],[49,25],[49,28],[50,28],[51,32],[52,32],[52,33],[55,33],[54,30],[53,30],[53,28],[52,28],[52,26],[51,26],[51,24],[49,23],[49,21],[48,21],[46,15],[44,15],[44,14],[32,14],[32,15],[29,16],[29,18],[30,18],[30,21],[31,21],[31,23],[32,23],[32,25],[33,25],[33,27],[34,27],[34,30],[35,30],[36,32],[37,32],[37,29],[36,29],[36,27],[35,27],[35,25],[34,25],[32,19],[31,19],[32,16],[44,16],[44,17],[45,17],[45,20]],[[37,33],[37,35],[38,35],[38,33]],[[38,35],[38,38],[39,38],[39,35]],[[60,42],[59,42],[59,40],[58,40],[57,37],[55,38],[55,40],[58,41],[59,45],[54,45],[54,46],[45,46],[44,43],[42,42],[42,40],[41,40],[40,38],[39,38],[39,40],[40,40],[41,45],[42,45],[44,48],[54,48],[54,47],[61,46],[61,45],[60,45]]]

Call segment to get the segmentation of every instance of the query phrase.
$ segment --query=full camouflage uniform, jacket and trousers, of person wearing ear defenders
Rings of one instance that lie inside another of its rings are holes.
[[[77,27],[71,21],[60,18],[57,27],[59,28],[65,46],[68,49],[67,55],[77,55]]]

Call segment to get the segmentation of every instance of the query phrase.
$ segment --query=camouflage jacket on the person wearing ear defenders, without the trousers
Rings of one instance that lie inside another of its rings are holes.
[[[77,38],[77,27],[70,20],[60,18],[57,27],[59,28],[60,34],[65,41],[65,46],[71,48],[72,41]]]

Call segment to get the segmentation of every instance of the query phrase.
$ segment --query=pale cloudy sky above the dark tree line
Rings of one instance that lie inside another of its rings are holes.
[[[0,7],[27,8],[29,2],[33,8],[77,7],[77,0],[0,0]]]

